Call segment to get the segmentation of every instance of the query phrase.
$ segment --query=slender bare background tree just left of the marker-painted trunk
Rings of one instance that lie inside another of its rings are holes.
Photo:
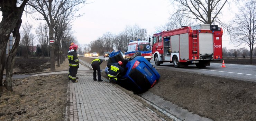
[[[39,42],[42,50],[42,56],[44,58],[45,51],[48,45],[48,26],[47,24],[40,23],[36,28],[37,41]]]

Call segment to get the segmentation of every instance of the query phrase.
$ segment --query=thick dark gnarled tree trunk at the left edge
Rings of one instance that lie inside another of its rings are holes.
[[[2,21],[0,22],[0,86],[2,86],[3,69],[6,62],[6,47],[11,32],[15,37],[15,44],[7,58],[6,68],[6,89],[12,91],[12,70],[15,61],[15,53],[19,46],[20,34],[19,28],[21,26],[21,17],[24,7],[28,0],[0,0],[0,11],[2,11]]]

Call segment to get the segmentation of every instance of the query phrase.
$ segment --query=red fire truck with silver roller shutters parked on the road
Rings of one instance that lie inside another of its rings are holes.
[[[196,25],[153,35],[152,56],[156,65],[173,63],[176,68],[195,64],[202,68],[222,60],[223,30],[217,25]],[[149,38],[149,41],[151,38]]]

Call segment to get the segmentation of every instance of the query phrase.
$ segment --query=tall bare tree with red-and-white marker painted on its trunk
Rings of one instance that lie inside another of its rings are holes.
[[[84,4],[86,0],[31,0],[28,2],[31,9],[37,11],[43,17],[36,19],[46,20],[49,27],[49,39],[54,40],[54,24],[58,16],[67,10],[77,11],[80,4]],[[50,43],[51,53],[51,71],[55,71],[54,44]]]

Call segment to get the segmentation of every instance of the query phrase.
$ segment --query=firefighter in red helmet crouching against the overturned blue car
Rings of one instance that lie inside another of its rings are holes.
[[[123,73],[125,71],[124,68],[122,68],[121,66],[123,65],[123,63],[121,61],[119,61],[118,63],[112,63],[109,71],[108,71],[108,77],[109,77],[109,82],[110,83],[117,83],[117,76],[119,73]]]

